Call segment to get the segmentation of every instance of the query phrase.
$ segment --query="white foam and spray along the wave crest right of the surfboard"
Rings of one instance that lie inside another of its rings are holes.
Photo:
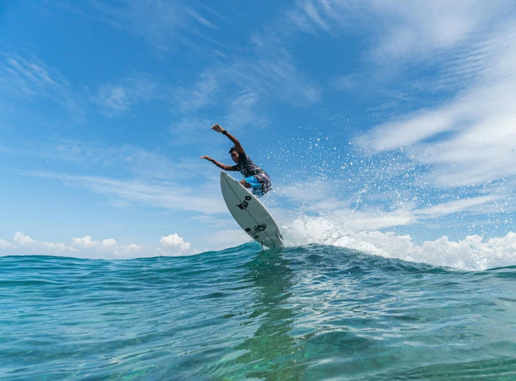
[[[289,246],[322,244],[356,249],[385,258],[399,258],[430,265],[479,271],[493,267],[516,265],[516,233],[485,239],[465,236],[452,241],[447,236],[437,240],[413,242],[409,235],[393,232],[352,231],[324,217],[298,217],[282,226]]]

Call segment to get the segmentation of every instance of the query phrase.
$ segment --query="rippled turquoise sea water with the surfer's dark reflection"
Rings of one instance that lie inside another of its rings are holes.
[[[246,244],[0,271],[4,380],[516,380],[516,266]]]

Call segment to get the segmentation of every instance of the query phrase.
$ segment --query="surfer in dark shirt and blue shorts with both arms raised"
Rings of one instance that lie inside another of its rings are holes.
[[[212,159],[209,156],[201,156],[201,159],[206,159],[207,161],[211,161],[218,168],[223,170],[237,170],[239,171],[244,179],[240,181],[240,184],[245,186],[246,188],[252,189],[252,194],[256,197],[261,197],[265,195],[270,188],[272,188],[270,184],[270,177],[267,173],[262,170],[259,166],[252,162],[252,160],[248,157],[246,152],[243,150],[242,145],[232,134],[224,130],[221,125],[218,123],[212,126],[212,130],[216,132],[221,132],[221,134],[227,136],[230,141],[233,142],[233,147],[230,149],[230,155],[233,161],[236,163],[234,166],[226,166],[223,163],[219,163],[218,161]]]

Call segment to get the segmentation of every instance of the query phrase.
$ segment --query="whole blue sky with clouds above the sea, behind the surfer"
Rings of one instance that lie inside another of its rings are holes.
[[[291,245],[514,252],[515,21],[513,1],[3,1],[0,251],[246,242],[199,159],[231,163],[221,123]]]

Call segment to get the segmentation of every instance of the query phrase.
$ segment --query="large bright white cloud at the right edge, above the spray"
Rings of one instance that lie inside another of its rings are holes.
[[[438,186],[516,175],[516,29],[500,30],[447,70],[464,87],[453,99],[378,125],[359,143],[372,152],[411,145],[407,154],[444,167],[429,175]]]

